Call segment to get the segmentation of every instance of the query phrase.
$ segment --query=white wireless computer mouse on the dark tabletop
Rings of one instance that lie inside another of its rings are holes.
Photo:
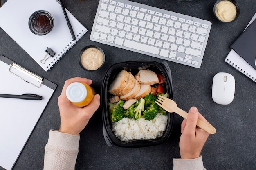
[[[217,73],[213,77],[211,95],[213,101],[220,105],[231,103],[235,95],[235,78],[229,73]]]

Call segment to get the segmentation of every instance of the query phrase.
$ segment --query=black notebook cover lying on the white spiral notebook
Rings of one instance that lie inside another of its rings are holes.
[[[256,20],[231,45],[256,70]]]

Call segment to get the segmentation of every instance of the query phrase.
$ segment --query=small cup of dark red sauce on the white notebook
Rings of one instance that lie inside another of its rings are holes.
[[[52,31],[53,26],[53,17],[47,11],[36,11],[29,18],[29,29],[36,35],[45,35],[49,33]]]

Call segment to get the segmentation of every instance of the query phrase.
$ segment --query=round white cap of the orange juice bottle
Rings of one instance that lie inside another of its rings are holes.
[[[87,89],[82,83],[74,82],[67,87],[66,95],[71,102],[79,103],[86,98]]]

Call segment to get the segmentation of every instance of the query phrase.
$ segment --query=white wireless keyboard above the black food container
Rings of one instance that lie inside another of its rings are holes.
[[[128,0],[100,0],[90,40],[200,68],[211,22]]]

